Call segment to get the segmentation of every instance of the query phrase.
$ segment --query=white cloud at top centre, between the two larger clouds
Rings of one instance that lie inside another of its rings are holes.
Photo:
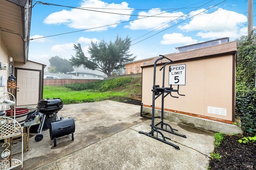
[[[131,21],[130,25],[126,25],[125,28],[136,30],[136,29],[156,29],[160,27],[159,29],[163,29],[163,28],[169,27],[171,25],[171,23],[169,22],[171,21],[176,23],[178,20],[184,19],[184,17],[179,18],[180,16],[184,15],[182,12],[169,13],[166,11],[161,11],[158,8],[151,9],[148,12],[139,12],[138,15],[140,15],[138,16],[138,19],[140,18],[143,18],[143,19]],[[158,16],[158,17],[144,17],[144,16]]]

